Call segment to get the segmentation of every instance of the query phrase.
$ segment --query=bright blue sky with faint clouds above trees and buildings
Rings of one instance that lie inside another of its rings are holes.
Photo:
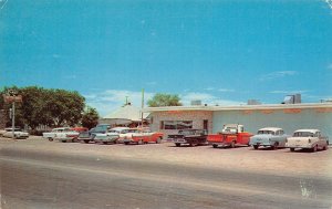
[[[105,116],[126,96],[184,105],[332,98],[329,0],[0,0],[0,88],[80,92]]]

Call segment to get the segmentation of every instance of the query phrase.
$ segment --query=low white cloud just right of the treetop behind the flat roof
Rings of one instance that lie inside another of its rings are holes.
[[[212,95],[212,94],[207,94],[207,93],[198,93],[198,92],[189,92],[187,94],[180,95],[181,97],[181,103],[184,105],[190,105],[191,101],[199,100],[201,101],[203,104],[208,104],[208,105],[239,105],[243,104],[242,102],[239,101],[229,101],[229,100],[220,100],[219,97]]]

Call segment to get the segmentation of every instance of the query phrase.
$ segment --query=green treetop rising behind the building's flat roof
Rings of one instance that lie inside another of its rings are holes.
[[[181,106],[180,98],[177,94],[157,93],[153,98],[147,101],[149,107],[157,106]]]

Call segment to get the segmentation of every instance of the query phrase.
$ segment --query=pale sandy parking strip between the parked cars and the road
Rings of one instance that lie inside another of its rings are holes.
[[[29,139],[1,138],[1,149],[38,151],[58,155],[95,156],[104,158],[131,158],[195,167],[224,168],[279,175],[319,175],[332,177],[332,149],[311,153],[281,148],[252,147],[212,148],[211,146],[176,147],[173,143],[148,145],[95,145],[48,142],[39,136]]]

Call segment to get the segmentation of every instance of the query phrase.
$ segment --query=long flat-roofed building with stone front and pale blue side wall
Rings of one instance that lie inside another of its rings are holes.
[[[291,135],[300,128],[318,128],[332,140],[332,103],[240,106],[149,107],[151,128],[165,135],[183,128],[204,128],[217,133],[225,124],[242,124],[246,130],[281,127]]]

